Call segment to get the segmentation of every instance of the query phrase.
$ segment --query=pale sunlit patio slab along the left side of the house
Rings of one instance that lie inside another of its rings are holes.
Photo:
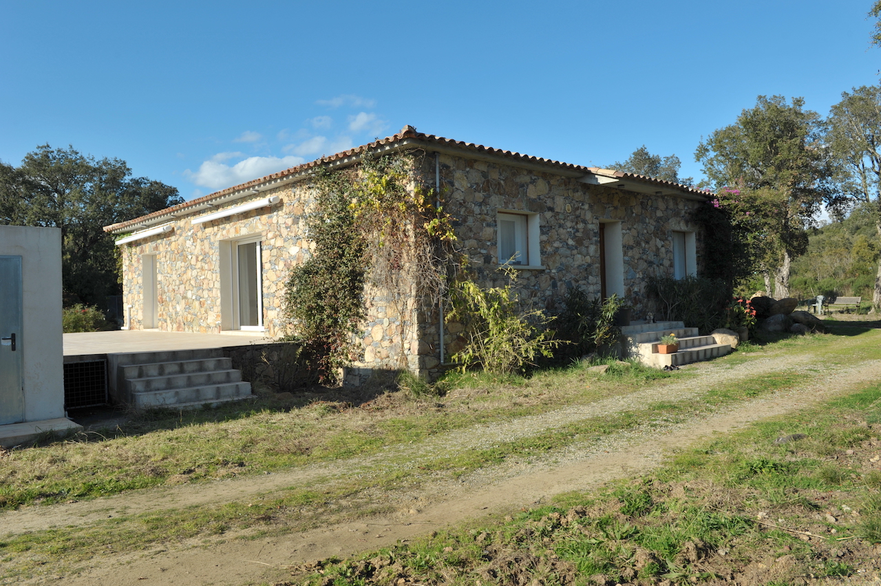
[[[260,332],[188,333],[152,330],[65,333],[65,356],[161,352],[200,348],[226,348],[269,343],[272,338]]]

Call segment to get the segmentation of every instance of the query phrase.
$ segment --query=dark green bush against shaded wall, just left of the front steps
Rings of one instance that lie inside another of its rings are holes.
[[[609,353],[614,350],[621,330],[615,326],[615,315],[624,306],[624,300],[615,294],[605,301],[591,299],[581,288],[566,292],[566,309],[559,316],[558,337],[569,342],[567,355],[583,356],[591,352]]]

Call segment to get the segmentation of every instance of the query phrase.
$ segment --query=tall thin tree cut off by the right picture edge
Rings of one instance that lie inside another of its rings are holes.
[[[870,210],[881,238],[881,88],[863,85],[854,88],[853,93],[841,92],[841,101],[832,106],[827,128],[829,149],[842,164],[841,194]],[[881,262],[872,304],[881,308]]]

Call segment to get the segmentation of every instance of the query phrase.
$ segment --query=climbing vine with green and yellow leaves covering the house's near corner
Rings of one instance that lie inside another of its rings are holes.
[[[461,254],[449,216],[419,176],[419,157],[364,159],[316,173],[307,231],[315,248],[286,283],[285,312],[326,381],[359,358],[366,318],[365,286],[389,299],[400,316],[398,356],[417,327],[418,311],[447,290]]]

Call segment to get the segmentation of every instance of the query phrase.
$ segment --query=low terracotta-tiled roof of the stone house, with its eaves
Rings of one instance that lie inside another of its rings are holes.
[[[661,194],[666,190],[675,192],[676,194],[689,197],[690,199],[707,199],[710,194],[707,191],[699,190],[691,186],[680,185],[663,179],[654,179],[635,173],[625,173],[614,171],[611,169],[600,169],[598,167],[585,167],[581,165],[573,165],[571,163],[563,163],[548,158],[532,157],[522,155],[512,150],[493,149],[482,144],[464,143],[463,141],[455,141],[442,136],[426,135],[417,132],[416,128],[405,126],[395,135],[377,139],[373,143],[362,144],[354,149],[344,150],[329,157],[321,157],[297,165],[284,171],[266,175],[260,179],[253,179],[247,183],[241,183],[233,187],[227,187],[212,194],[205,195],[195,200],[185,201],[176,206],[167,209],[160,209],[152,214],[140,216],[125,222],[111,224],[104,227],[107,232],[125,232],[144,228],[149,225],[167,222],[174,217],[196,213],[205,209],[210,209],[213,204],[233,199],[238,199],[248,194],[257,194],[266,189],[278,187],[279,185],[306,177],[310,172],[318,167],[334,167],[351,165],[357,162],[360,157],[367,153],[382,153],[394,150],[411,150],[423,148],[426,150],[439,150],[450,154],[460,154],[470,157],[487,158],[495,160],[507,159],[511,165],[527,167],[544,172],[552,172],[573,178],[579,178],[586,183],[595,185],[606,185],[608,187],[624,187],[627,183],[627,189],[640,191],[643,193]]]

